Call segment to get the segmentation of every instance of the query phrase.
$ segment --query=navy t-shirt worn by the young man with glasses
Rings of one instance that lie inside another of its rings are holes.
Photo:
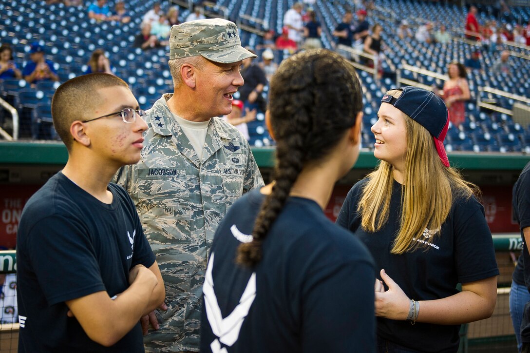
[[[139,323],[107,348],[66,315],[67,300],[120,294],[135,265],[155,262],[133,201],[116,184],[108,190],[111,204],[59,172],[25,205],[16,236],[19,352],[144,352]]]

